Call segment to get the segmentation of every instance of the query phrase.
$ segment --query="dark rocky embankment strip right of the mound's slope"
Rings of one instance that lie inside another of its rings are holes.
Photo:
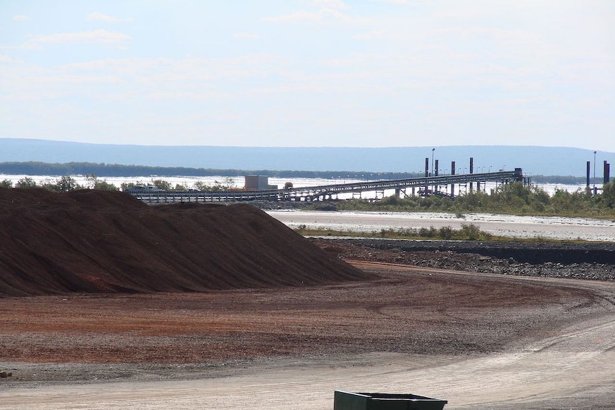
[[[615,280],[615,244],[312,239],[339,257],[466,272]]]

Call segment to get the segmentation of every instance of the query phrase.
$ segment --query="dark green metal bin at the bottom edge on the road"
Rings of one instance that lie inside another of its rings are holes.
[[[442,410],[448,401],[416,394],[351,393],[335,390],[333,410]]]

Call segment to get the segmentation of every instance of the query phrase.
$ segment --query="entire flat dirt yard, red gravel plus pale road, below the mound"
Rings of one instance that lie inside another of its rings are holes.
[[[615,409],[613,283],[357,266],[382,280],[4,299],[0,367],[14,377],[0,380],[0,403],[324,410],[342,389],[439,397],[445,409]],[[185,357],[209,365],[178,365]]]

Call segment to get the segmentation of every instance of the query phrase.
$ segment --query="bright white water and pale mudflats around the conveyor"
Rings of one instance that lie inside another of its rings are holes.
[[[0,175],[0,180],[11,180],[16,183],[26,175]],[[54,175],[34,175],[29,176],[36,183],[55,183],[59,176]],[[87,185],[88,181],[83,176],[73,176],[80,185]],[[187,188],[193,187],[196,182],[213,185],[216,182],[226,183],[227,177],[196,177],[196,176],[175,176],[175,177],[108,177],[100,178],[106,182],[121,186],[122,183],[142,183],[151,184],[152,180],[162,179],[171,183],[172,186],[184,185]],[[243,187],[244,178],[231,178],[236,187]],[[338,183],[354,183],[360,180],[353,179],[324,179],[324,178],[269,178],[270,185],[277,185],[283,188],[284,184],[290,182],[297,188],[329,185]],[[495,188],[495,184],[481,184],[482,188],[489,192]],[[566,190],[575,192],[583,190],[585,185],[557,185],[557,184],[538,184],[539,188],[544,189],[550,195],[556,190]],[[599,186],[599,185],[596,185]],[[476,189],[476,185],[474,185]],[[456,186],[456,193],[464,193],[469,190],[466,186]],[[408,190],[410,194],[410,189]],[[394,195],[394,190],[385,191],[384,195]],[[382,193],[362,193],[362,198],[382,198]],[[355,198],[358,195],[355,194]],[[339,199],[352,198],[352,194],[339,195]],[[346,230],[352,232],[379,232],[382,229],[406,229],[420,227],[445,227],[450,226],[459,229],[464,223],[478,225],[484,232],[492,235],[504,237],[532,238],[544,237],[556,240],[594,240],[615,242],[615,220],[598,220],[591,218],[566,218],[566,217],[527,217],[517,215],[493,215],[493,214],[467,214],[463,217],[447,213],[433,212],[289,212],[273,211],[269,214],[276,219],[284,222],[290,227],[305,225],[306,227]]]

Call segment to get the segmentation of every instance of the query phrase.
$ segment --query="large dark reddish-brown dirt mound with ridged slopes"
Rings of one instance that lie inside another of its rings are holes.
[[[203,292],[367,275],[251,205],[0,189],[0,295]]]

